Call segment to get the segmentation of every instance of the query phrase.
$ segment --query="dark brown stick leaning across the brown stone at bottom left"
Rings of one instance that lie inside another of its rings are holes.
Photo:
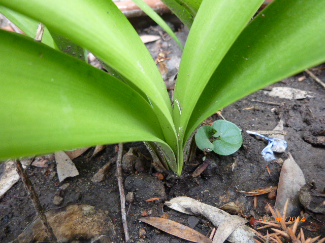
[[[46,216],[45,216],[44,210],[41,206],[39,197],[38,197],[34,187],[32,186],[31,181],[29,180],[26,171],[22,167],[19,159],[14,159],[14,163],[16,166],[16,171],[24,184],[25,190],[27,191],[27,193],[32,201],[32,204],[34,205],[35,211],[36,211],[38,217],[40,217],[40,220],[43,224],[43,228],[47,234],[48,239],[50,240],[50,242],[56,243],[57,242],[56,236],[53,233],[52,227],[50,226],[50,224],[48,223],[48,221],[46,219]]]

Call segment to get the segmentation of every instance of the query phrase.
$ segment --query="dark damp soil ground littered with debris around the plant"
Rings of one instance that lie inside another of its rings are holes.
[[[175,25],[174,25],[175,27]],[[176,30],[179,26],[176,26]],[[159,33],[160,32],[160,33]],[[149,27],[141,31],[141,34],[153,34],[161,36],[164,31],[159,27]],[[179,29],[178,37],[185,42],[187,31]],[[163,72],[167,86],[172,92],[174,77],[177,74],[177,65],[181,51],[175,42],[168,36],[159,41],[147,44],[154,59],[160,54],[160,71]],[[163,55],[163,57],[161,57]],[[163,63],[163,64],[161,64]],[[325,80],[325,65],[310,69],[321,80]],[[165,72],[165,73],[164,73]],[[305,76],[305,78],[302,78]],[[197,178],[191,177],[191,173],[202,163],[204,153],[196,150],[196,156],[185,165],[183,175],[180,178],[172,173],[165,173],[163,180],[158,180],[153,168],[144,167],[143,172],[135,174],[124,173],[124,186],[126,193],[134,192],[135,199],[126,204],[128,230],[131,235],[129,242],[188,242],[165,232],[156,230],[152,226],[139,222],[137,219],[147,211],[150,216],[162,216],[165,214],[171,220],[193,227],[205,235],[211,232],[211,224],[202,217],[188,216],[173,211],[164,206],[164,201],[175,196],[189,196],[203,203],[221,207],[231,201],[244,208],[246,215],[257,218],[266,215],[266,203],[274,206],[275,199],[269,199],[267,194],[257,196],[257,208],[253,206],[253,197],[245,197],[238,191],[249,191],[258,187],[277,186],[281,166],[278,163],[267,162],[261,155],[262,149],[267,145],[262,139],[248,135],[246,130],[273,130],[282,119],[284,130],[287,132],[285,140],[288,142],[287,152],[290,152],[297,164],[302,169],[306,182],[314,180],[317,187],[322,190],[325,187],[325,149],[324,144],[315,145],[317,136],[325,130],[325,89],[315,83],[306,72],[281,80],[271,87],[291,87],[313,93],[313,98],[306,99],[280,99],[270,97],[264,90],[257,91],[248,97],[224,108],[222,115],[225,119],[235,123],[243,130],[243,145],[236,153],[230,156],[220,156],[207,153],[210,161],[208,168]],[[270,87],[268,87],[270,88]],[[264,101],[257,102],[258,101]],[[272,105],[265,102],[282,103]],[[220,119],[213,115],[207,122]],[[322,133],[322,137],[325,134]],[[314,143],[314,144],[311,144]],[[150,157],[142,142],[124,144],[125,152],[130,147],[138,147],[138,152]],[[120,199],[115,175],[115,165],[109,168],[105,180],[94,183],[93,175],[110,159],[115,161],[116,145],[108,145],[105,150],[90,158],[93,148],[74,159],[74,163],[80,173],[79,176],[68,178],[59,183],[55,173],[55,161],[48,162],[49,167],[41,168],[30,166],[27,173],[39,193],[40,200],[45,209],[57,208],[53,205],[54,195],[60,195],[63,202],[60,206],[81,203],[94,206],[106,211],[114,224],[117,238],[115,242],[123,242],[123,230],[120,215]],[[277,154],[283,160],[287,153]],[[115,158],[115,159],[114,159]],[[146,163],[150,160],[143,158]],[[267,168],[269,167],[271,175]],[[0,173],[4,169],[0,165]],[[62,190],[62,184],[69,186]],[[145,200],[159,197],[160,199],[147,203]],[[23,188],[22,183],[17,182],[0,199],[0,241],[9,242],[15,239],[26,225],[35,217],[34,208]],[[323,214],[312,215],[299,227],[304,227],[307,236],[325,236],[325,217]],[[310,224],[317,224],[316,231]],[[306,226],[307,225],[307,226]],[[306,227],[305,227],[306,226]],[[145,238],[139,236],[139,229],[146,231]],[[308,230],[309,229],[309,230]],[[314,230],[314,231],[312,231]]]

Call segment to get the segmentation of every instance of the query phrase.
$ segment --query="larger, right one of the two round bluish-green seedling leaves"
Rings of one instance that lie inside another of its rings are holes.
[[[212,128],[216,130],[213,137],[217,140],[213,141],[213,151],[221,155],[229,155],[236,152],[242,145],[243,138],[239,128],[226,120],[216,120],[212,124]]]

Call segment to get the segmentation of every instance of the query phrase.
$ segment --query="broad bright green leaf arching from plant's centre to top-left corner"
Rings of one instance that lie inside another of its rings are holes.
[[[165,83],[139,35],[111,0],[0,0],[0,4],[68,37],[133,82],[148,96],[166,141],[177,152]]]

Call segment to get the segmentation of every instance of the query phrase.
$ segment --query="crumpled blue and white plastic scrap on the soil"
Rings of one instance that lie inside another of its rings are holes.
[[[283,153],[287,147],[287,144],[288,144],[285,140],[280,139],[280,138],[269,138],[267,136],[263,136],[259,133],[253,132],[253,131],[246,131],[246,133],[257,135],[261,138],[268,140],[268,142],[269,142],[268,146],[266,146],[261,152],[262,156],[264,157],[264,159],[266,161],[271,161],[273,159],[276,159],[273,152]]]

